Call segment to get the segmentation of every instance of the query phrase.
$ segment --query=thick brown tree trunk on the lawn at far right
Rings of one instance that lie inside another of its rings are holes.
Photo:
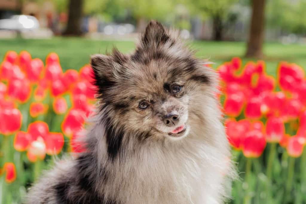
[[[266,0],[252,0],[252,19],[246,57],[263,57]]]

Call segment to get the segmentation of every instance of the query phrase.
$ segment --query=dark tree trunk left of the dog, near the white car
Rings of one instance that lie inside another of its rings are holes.
[[[63,35],[82,35],[81,18],[82,18],[83,0],[69,1],[69,14],[67,28]]]

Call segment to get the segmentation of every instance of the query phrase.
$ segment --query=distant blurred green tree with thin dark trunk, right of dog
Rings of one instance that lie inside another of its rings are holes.
[[[238,0],[193,0],[191,6],[196,13],[211,19],[213,24],[213,39],[222,40],[224,28],[230,18],[230,7]]]

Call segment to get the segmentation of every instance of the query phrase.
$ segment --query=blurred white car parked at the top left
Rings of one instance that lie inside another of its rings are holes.
[[[0,20],[0,29],[27,31],[39,28],[39,22],[34,16],[13,15],[9,19]]]

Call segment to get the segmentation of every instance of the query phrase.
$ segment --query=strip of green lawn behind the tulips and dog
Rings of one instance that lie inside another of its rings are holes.
[[[245,53],[244,42],[208,42],[193,41],[191,46],[198,50],[197,56],[209,58],[215,62],[217,67],[224,61],[229,61],[232,57],[243,57]],[[66,69],[79,69],[89,62],[89,56],[95,53],[105,53],[111,51],[116,46],[124,53],[131,52],[134,48],[134,42],[131,41],[101,41],[84,38],[62,38],[53,39],[0,39],[0,59],[8,50],[27,50],[32,57],[45,59],[48,53],[56,52],[61,60],[61,65]],[[292,44],[282,45],[280,43],[265,43],[264,60],[267,63],[267,73],[275,76],[275,70],[280,61],[289,61],[297,63],[306,68],[306,45]],[[243,58],[245,63],[248,60]]]

